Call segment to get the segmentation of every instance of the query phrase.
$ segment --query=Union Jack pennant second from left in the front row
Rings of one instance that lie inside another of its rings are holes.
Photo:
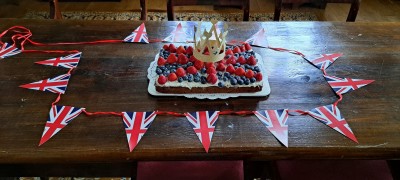
[[[156,113],[156,111],[123,112],[122,120],[124,122],[130,152],[135,149],[144,133],[146,133],[147,129],[154,121],[154,118],[157,115]]]

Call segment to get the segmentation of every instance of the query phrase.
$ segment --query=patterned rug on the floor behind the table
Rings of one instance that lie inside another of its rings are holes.
[[[64,19],[70,20],[140,20],[140,12],[63,12]],[[273,13],[250,13],[250,21],[272,21]],[[49,19],[45,11],[30,11],[25,14],[26,19]],[[178,21],[242,21],[242,13],[193,13],[177,12]],[[314,12],[285,12],[281,13],[281,21],[318,21]],[[148,21],[167,21],[166,12],[148,12]]]

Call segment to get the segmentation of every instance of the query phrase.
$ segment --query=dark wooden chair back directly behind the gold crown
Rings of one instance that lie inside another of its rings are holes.
[[[167,16],[168,21],[174,20],[174,6],[195,6],[195,5],[218,5],[218,6],[239,6],[243,9],[243,21],[249,21],[250,0],[168,0]]]

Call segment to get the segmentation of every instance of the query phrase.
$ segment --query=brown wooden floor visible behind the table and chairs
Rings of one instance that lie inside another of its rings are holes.
[[[250,13],[272,13],[274,0],[251,0]],[[148,11],[166,11],[166,0],[148,0]],[[140,11],[139,0],[121,0],[120,2],[60,2],[62,11]],[[313,11],[326,21],[345,21],[349,4],[328,4],[326,9],[300,6],[296,11]],[[21,18],[28,11],[48,11],[48,2],[44,0],[0,0],[1,18]],[[177,7],[177,11],[212,12],[212,6]],[[222,11],[239,11],[224,9]],[[283,9],[282,12],[291,11]],[[363,0],[356,21],[400,21],[400,0]]]

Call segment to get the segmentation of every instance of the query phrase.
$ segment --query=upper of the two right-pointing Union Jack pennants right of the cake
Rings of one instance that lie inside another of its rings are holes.
[[[307,61],[313,64],[315,67],[325,70],[328,68],[333,62],[336,61],[337,58],[342,56],[341,53],[333,53],[333,54],[314,54],[304,57]]]

